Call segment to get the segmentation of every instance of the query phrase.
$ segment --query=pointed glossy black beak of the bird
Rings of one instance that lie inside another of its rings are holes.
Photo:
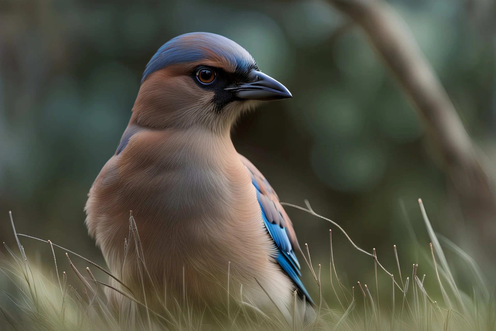
[[[240,99],[272,101],[293,97],[283,84],[260,71],[251,70],[249,80],[225,89],[235,92]]]

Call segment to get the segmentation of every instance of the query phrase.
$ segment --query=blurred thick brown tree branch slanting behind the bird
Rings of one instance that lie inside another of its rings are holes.
[[[480,156],[411,30],[383,0],[329,0],[368,36],[372,46],[397,78],[404,93],[424,118],[444,162],[463,215],[478,222],[494,239],[496,215],[494,176]],[[489,167],[488,167],[489,168]],[[481,233],[481,232],[480,232]],[[494,248],[493,248],[494,250]]]

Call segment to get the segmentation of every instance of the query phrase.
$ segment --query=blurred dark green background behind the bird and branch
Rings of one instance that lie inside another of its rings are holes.
[[[496,155],[493,1],[390,3],[412,29],[467,131],[490,158]],[[360,29],[324,0],[0,0],[1,241],[14,247],[12,210],[18,232],[104,264],[83,224],[86,195],[124,132],[144,66],[170,38],[193,31],[236,41],[292,92],[293,99],[247,114],[233,132],[238,151],[282,201],[304,205],[309,199],[361,248],[376,248],[395,274],[396,244],[408,275],[415,262],[419,273],[432,271],[422,269],[427,262],[399,203],[427,250],[417,202],[422,198],[434,229],[475,256],[494,284],[491,259],[474,245],[477,234],[451,199],[425,124]],[[323,265],[327,295],[332,227],[286,209],[300,243],[309,243],[315,268]],[[342,281],[348,288],[357,280],[372,284],[372,260],[337,229],[333,235]],[[29,256],[52,267],[46,244],[22,242]],[[62,251],[57,254],[60,269],[68,270]],[[468,271],[457,270],[470,293]],[[390,279],[382,278],[379,286],[389,290]],[[312,281],[305,268],[304,282],[316,296]],[[435,284],[432,272],[426,282]],[[433,291],[435,296],[435,286]]]

